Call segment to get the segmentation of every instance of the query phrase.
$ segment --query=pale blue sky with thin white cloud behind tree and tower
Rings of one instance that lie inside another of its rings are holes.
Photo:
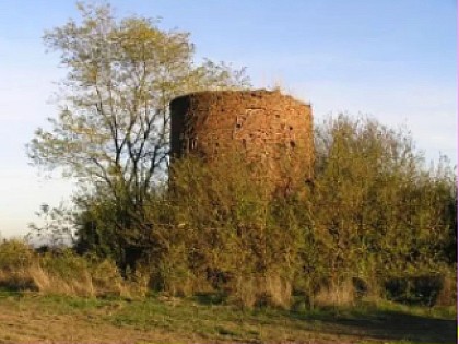
[[[454,0],[131,0],[119,16],[162,16],[191,33],[198,60],[247,67],[256,87],[281,84],[316,120],[340,111],[405,126],[427,159],[457,164],[457,2]],[[78,17],[73,1],[0,0],[0,233],[23,235],[42,203],[71,183],[28,166],[25,144],[57,115],[64,75],[45,29]]]

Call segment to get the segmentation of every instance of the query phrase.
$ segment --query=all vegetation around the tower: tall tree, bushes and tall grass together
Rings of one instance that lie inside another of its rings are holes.
[[[3,285],[207,294],[245,308],[456,303],[457,178],[446,161],[427,168],[403,130],[339,116],[316,128],[314,181],[289,192],[268,194],[263,171],[237,153],[169,167],[168,102],[245,79],[225,66],[196,67],[185,33],[148,19],[118,22],[109,7],[81,10],[81,24],[46,35],[72,93],[30,146],[35,163],[80,182],[70,216],[45,212],[67,216],[75,232],[35,228],[70,234],[73,246],[37,253],[1,245]]]

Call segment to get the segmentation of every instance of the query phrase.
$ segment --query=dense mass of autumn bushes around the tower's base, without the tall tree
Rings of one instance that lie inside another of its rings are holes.
[[[235,153],[174,162],[169,183],[134,213],[105,194],[80,198],[75,249],[115,261],[125,278],[141,271],[155,289],[217,293],[249,307],[289,307],[292,295],[310,307],[365,296],[454,303],[457,178],[448,164],[427,168],[405,132],[369,119],[329,119],[315,145],[314,181],[289,192],[272,193],[260,167]],[[49,271],[89,269],[66,259]]]

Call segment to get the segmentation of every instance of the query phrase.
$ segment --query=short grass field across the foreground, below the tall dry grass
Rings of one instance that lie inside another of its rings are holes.
[[[456,308],[243,310],[192,299],[0,293],[0,343],[456,343]]]

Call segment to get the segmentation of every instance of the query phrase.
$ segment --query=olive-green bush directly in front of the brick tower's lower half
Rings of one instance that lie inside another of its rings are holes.
[[[208,287],[248,306],[267,298],[286,306],[302,230],[285,200],[272,199],[266,181],[254,178],[255,168],[237,155],[211,166],[193,157],[177,162],[167,201],[175,226],[167,238]]]

